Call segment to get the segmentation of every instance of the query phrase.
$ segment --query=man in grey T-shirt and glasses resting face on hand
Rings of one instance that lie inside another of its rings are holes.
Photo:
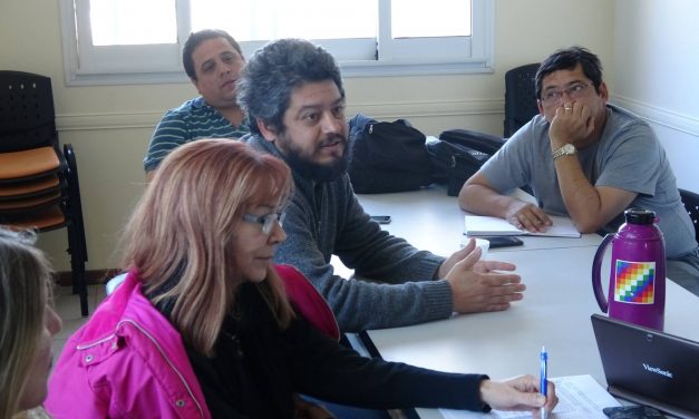
[[[663,148],[650,126],[608,104],[598,57],[554,52],[536,77],[541,115],[523,126],[459,193],[462,208],[535,232],[546,214],[582,233],[615,231],[629,207],[652,210],[666,238],[667,274],[699,294],[699,250]],[[530,186],[537,205],[505,195]]]

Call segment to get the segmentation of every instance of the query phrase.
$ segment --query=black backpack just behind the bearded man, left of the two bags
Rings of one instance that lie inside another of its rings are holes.
[[[350,125],[349,176],[355,192],[381,194],[433,183],[425,134],[405,119],[379,123],[358,114]]]

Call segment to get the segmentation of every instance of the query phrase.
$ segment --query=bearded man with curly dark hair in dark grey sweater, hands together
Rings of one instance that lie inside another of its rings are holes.
[[[251,120],[246,140],[282,158],[294,178],[287,241],[274,261],[293,264],[311,280],[343,332],[506,310],[522,299],[520,276],[497,272],[515,266],[479,261],[473,241],[444,259],[369,218],[347,174],[344,89],[326,50],[299,39],[268,43],[243,69],[237,100]],[[355,270],[353,277],[334,274],[333,254]]]

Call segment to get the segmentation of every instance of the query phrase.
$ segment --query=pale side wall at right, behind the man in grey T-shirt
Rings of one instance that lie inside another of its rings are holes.
[[[678,186],[699,192],[699,2],[617,0],[615,101],[653,126]]]

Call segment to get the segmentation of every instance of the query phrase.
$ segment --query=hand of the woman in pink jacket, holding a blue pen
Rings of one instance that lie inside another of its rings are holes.
[[[503,381],[483,380],[480,400],[497,410],[528,410],[538,417],[538,410],[551,412],[559,403],[555,384],[546,381],[546,394],[538,388],[538,380],[532,376],[520,376]]]

